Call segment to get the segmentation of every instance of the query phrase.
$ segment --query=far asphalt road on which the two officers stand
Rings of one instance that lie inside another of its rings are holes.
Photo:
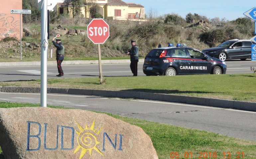
[[[227,74],[252,73],[250,67],[256,68],[255,61],[229,60],[226,61]],[[142,71],[143,63],[138,64],[138,76],[145,76]],[[61,78],[84,78],[98,77],[99,65],[63,65],[64,77]],[[103,64],[102,74],[104,77],[110,76],[132,76],[130,64]],[[48,79],[59,78],[57,66],[48,66]],[[40,66],[17,66],[0,67],[0,81],[9,80],[31,80],[40,79]]]

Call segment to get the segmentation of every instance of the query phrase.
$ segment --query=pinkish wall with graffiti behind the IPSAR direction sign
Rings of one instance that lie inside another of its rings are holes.
[[[15,37],[20,40],[20,14],[11,14],[11,9],[22,9],[21,0],[1,0],[0,9],[0,40],[5,37]],[[22,16],[21,16],[21,35]]]

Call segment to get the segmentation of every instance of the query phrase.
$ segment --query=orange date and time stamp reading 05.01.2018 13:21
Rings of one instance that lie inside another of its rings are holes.
[[[218,158],[218,157],[223,157],[222,159],[236,159],[236,158],[240,158],[243,159],[244,158],[244,152],[239,152],[237,151],[236,153],[231,153],[229,151],[227,152],[222,152],[222,156],[218,156],[217,152],[199,152],[196,155],[193,155],[192,152],[184,152],[184,154],[179,154],[179,152],[171,152],[170,153],[170,158]]]

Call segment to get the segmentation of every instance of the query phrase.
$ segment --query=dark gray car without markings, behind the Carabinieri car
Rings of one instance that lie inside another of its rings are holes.
[[[251,45],[255,44],[251,40],[228,40],[217,47],[202,50],[203,53],[225,61],[226,59],[246,60],[251,58]]]

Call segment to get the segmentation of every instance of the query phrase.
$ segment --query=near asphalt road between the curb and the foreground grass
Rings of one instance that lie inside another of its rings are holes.
[[[39,93],[0,92],[0,101],[40,103]],[[48,94],[49,105],[108,112],[256,141],[256,112],[148,100]]]

